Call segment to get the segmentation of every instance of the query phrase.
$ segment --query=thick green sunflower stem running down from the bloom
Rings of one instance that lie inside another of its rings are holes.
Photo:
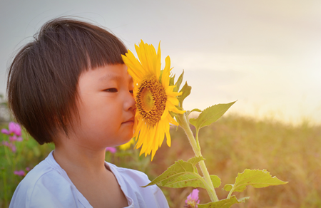
[[[180,127],[183,128],[186,135],[188,136],[188,140],[190,140],[190,145],[193,148],[195,156],[196,157],[202,156],[202,153],[200,152],[200,145],[198,143],[198,131],[196,134],[196,137],[197,137],[197,142],[196,142],[193,132],[192,132],[192,130],[190,130],[190,126],[188,125],[188,118],[186,118],[185,114],[179,116],[178,123],[180,124]],[[208,169],[205,166],[204,160],[200,161],[199,164],[200,164],[200,170],[203,173],[205,182],[208,184],[208,186],[206,186],[207,187],[206,190],[208,191],[208,195],[210,196],[210,200],[212,202],[218,202],[218,196],[215,193],[213,182],[212,182],[212,180],[210,180],[210,174],[208,173]]]

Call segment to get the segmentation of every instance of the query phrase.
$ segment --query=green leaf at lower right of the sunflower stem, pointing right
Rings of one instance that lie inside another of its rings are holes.
[[[243,192],[246,186],[251,185],[255,188],[263,188],[269,186],[277,186],[280,184],[287,184],[277,177],[272,177],[267,170],[250,170],[246,169],[242,173],[238,173],[238,177],[235,179],[235,184],[226,184],[224,190],[230,192]]]

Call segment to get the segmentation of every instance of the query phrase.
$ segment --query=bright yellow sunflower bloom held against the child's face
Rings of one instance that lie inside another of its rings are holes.
[[[177,96],[181,93],[174,91],[175,85],[170,85],[170,58],[165,58],[165,68],[161,71],[161,43],[156,53],[153,45],[141,41],[136,46],[138,59],[128,50],[123,61],[128,67],[128,73],[133,78],[133,95],[136,98],[136,148],[141,147],[140,155],[145,153],[152,158],[161,147],[166,135],[167,145],[170,147],[170,123],[178,123],[170,115],[185,113],[178,110]]]

